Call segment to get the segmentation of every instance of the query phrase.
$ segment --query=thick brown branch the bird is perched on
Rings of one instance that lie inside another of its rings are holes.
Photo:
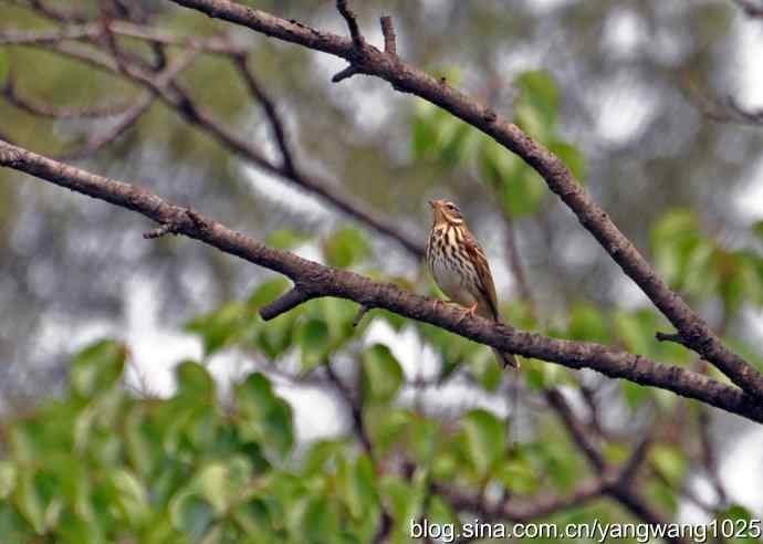
[[[557,363],[569,368],[593,368],[609,377],[668,389],[763,422],[763,404],[759,399],[699,373],[661,365],[600,344],[521,332],[479,316],[464,318],[463,312],[451,305],[436,304],[432,299],[416,295],[395,284],[375,282],[346,270],[302,259],[288,251],[268,248],[198,212],[169,203],[142,187],[97,176],[6,142],[0,142],[0,166],[135,210],[160,224],[171,224],[173,232],[200,240],[286,275],[304,295],[336,296],[355,301],[369,308],[386,308],[501,351]]]

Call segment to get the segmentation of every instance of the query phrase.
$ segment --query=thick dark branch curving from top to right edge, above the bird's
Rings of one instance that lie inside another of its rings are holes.
[[[516,125],[501,118],[447,82],[441,82],[404,63],[397,55],[379,51],[370,44],[365,44],[363,54],[358,55],[352,39],[291,22],[229,0],[170,1],[279,40],[345,59],[364,74],[382,77],[396,90],[431,102],[491,136],[543,177],[548,188],[577,216],[581,224],[673,324],[691,349],[715,365],[745,391],[763,397],[763,376],[746,360],[728,349],[708,324],[667,285],[564,163]]]

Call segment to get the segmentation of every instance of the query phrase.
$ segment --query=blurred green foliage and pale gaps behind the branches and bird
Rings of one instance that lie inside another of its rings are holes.
[[[662,320],[515,158],[382,82],[332,85],[335,60],[144,3],[158,28],[226,29],[251,45],[306,169],[422,242],[427,199],[457,201],[491,257],[512,323],[696,365],[652,339]],[[332,2],[249,3],[344,32]],[[3,29],[50,27],[14,2],[2,8]],[[727,94],[760,102],[763,86],[745,62],[760,52],[760,20],[724,1],[368,1],[357,11],[376,43],[376,17],[394,14],[407,60],[554,148],[671,285],[761,367],[762,133],[713,122],[698,106]],[[136,96],[61,56],[0,55],[19,92],[43,102]],[[181,81],[274,151],[230,65],[202,57]],[[3,101],[0,119],[3,135],[49,154],[105,123],[41,119]],[[300,254],[432,290],[395,242],[242,164],[160,104],[80,164]],[[730,469],[763,463],[751,423],[539,362],[506,375],[487,349],[376,312],[353,329],[355,308],[344,302],[314,301],[264,324],[257,307],[285,283],[185,240],[145,242],[144,230],[130,213],[0,171],[0,526],[17,542],[370,542],[385,515],[390,538],[405,541],[406,520],[454,520],[441,483],[489,503],[564,496],[596,474],[546,406],[548,388],[564,391],[613,463],[651,433],[634,487],[667,519],[763,514],[760,470],[740,479]],[[508,237],[532,304],[509,273]],[[93,344],[101,337],[114,339]],[[169,379],[184,358],[194,362]],[[594,517],[633,513],[600,499],[552,520]]]

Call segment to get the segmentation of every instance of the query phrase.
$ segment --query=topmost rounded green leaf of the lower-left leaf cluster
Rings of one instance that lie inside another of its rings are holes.
[[[72,389],[92,397],[114,387],[125,367],[127,349],[114,341],[97,342],[80,352],[72,363]]]

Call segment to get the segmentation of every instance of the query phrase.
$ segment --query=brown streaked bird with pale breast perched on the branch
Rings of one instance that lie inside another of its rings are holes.
[[[500,323],[495,284],[490,264],[463,213],[448,200],[430,200],[433,222],[427,241],[426,260],[442,292],[461,306],[461,318],[474,314]],[[503,367],[520,368],[513,354],[493,348]]]

